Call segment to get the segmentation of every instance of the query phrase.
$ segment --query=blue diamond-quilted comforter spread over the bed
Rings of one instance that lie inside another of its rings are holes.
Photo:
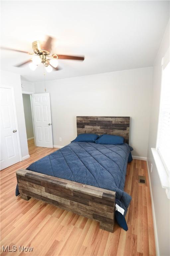
[[[72,142],[31,164],[27,170],[116,191],[116,203],[127,213],[131,197],[124,192],[130,148]]]

